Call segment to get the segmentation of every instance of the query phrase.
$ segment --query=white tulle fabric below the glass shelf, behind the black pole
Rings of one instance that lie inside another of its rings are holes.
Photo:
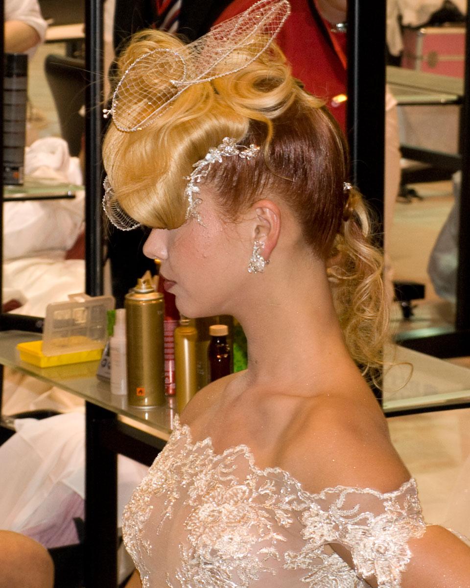
[[[75,542],[72,517],[83,517],[85,498],[84,415],[17,419],[15,427],[18,433],[0,446],[2,479],[8,480],[2,486],[0,528],[32,535],[46,547]],[[119,456],[118,469],[120,526],[124,506],[147,467]]]

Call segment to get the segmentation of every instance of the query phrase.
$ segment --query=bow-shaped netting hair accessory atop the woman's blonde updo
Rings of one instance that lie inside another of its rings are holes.
[[[186,88],[246,68],[261,55],[290,14],[287,0],[260,0],[177,51],[158,48],[137,58],[113,93],[112,115],[120,131],[140,131]]]

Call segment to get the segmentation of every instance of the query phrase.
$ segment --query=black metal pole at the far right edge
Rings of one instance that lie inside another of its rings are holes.
[[[470,1],[467,2],[465,35],[464,103],[461,110],[462,183],[459,210],[456,330],[470,329]]]

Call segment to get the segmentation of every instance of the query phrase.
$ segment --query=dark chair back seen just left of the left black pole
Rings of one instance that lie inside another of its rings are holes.
[[[72,156],[78,156],[85,132],[85,118],[79,114],[85,104],[85,60],[50,54],[44,64],[46,78],[59,116],[62,138]]]

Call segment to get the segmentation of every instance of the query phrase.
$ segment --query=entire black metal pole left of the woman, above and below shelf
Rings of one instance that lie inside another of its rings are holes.
[[[85,190],[86,293],[103,292],[101,131],[103,100],[103,5],[85,3]],[[116,420],[108,410],[86,403],[85,586],[117,585],[117,456],[100,439],[104,422]]]

